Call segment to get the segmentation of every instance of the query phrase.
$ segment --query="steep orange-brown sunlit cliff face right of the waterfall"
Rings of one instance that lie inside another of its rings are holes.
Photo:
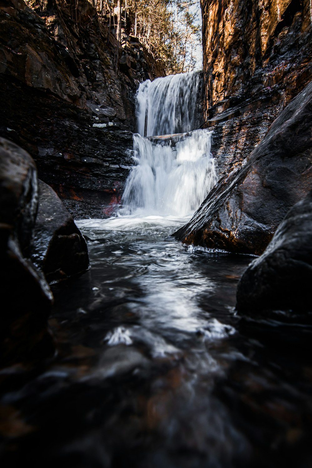
[[[204,117],[220,176],[311,80],[310,0],[202,0]]]

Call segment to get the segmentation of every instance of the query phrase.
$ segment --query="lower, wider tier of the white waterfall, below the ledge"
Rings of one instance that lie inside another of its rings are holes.
[[[122,203],[146,215],[191,216],[217,181],[211,132],[195,130],[174,142],[133,136],[132,168]]]

